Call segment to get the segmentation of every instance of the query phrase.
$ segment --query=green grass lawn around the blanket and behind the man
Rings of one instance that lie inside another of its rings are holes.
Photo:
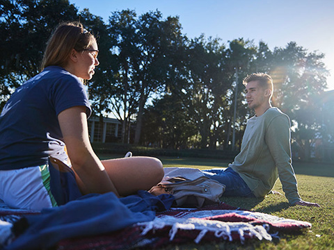
[[[100,156],[101,158],[113,158]],[[230,160],[204,158],[161,157],[164,167],[228,167]],[[299,194],[305,201],[317,202],[321,208],[289,206],[287,199],[279,194],[269,194],[264,199],[225,197],[221,200],[230,206],[268,213],[287,219],[298,219],[312,223],[312,228],[300,235],[280,235],[280,240],[273,242],[251,241],[246,244],[231,242],[212,242],[201,244],[173,245],[172,249],[334,249],[334,165],[324,163],[294,162]],[[284,194],[278,180],[273,190]]]

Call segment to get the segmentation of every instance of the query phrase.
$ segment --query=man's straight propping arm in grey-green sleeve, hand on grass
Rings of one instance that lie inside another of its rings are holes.
[[[278,177],[289,203],[301,206],[319,206],[317,203],[302,201],[299,196],[296,176],[292,168],[290,122],[287,117],[280,115],[271,121],[267,128],[266,142],[278,168]]]

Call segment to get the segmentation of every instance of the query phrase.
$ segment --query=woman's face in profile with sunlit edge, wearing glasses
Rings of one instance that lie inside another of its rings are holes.
[[[75,65],[74,75],[85,80],[90,80],[95,73],[94,69],[100,62],[97,60],[97,43],[93,42],[90,47],[77,53],[77,63]]]

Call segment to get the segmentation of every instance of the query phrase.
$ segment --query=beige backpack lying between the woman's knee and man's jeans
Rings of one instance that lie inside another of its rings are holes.
[[[219,203],[225,185],[205,176],[200,169],[189,167],[165,167],[164,178],[150,193],[173,194],[176,207],[201,208]]]

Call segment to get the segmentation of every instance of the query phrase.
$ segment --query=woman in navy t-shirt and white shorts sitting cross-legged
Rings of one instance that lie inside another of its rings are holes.
[[[50,190],[49,156],[67,163],[68,155],[82,194],[126,196],[149,190],[164,176],[157,158],[101,161],[95,155],[88,138],[91,109],[83,82],[93,77],[98,52],[96,39],[81,24],[61,24],[47,43],[43,71],[17,88],[3,108],[0,199],[8,206],[58,206]]]

